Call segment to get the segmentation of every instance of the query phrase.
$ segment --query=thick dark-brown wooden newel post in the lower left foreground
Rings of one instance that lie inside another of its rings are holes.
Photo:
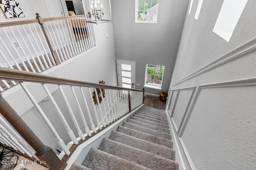
[[[45,161],[47,168],[50,170],[64,170],[66,163],[62,162],[54,151],[44,145],[42,141],[34,134],[28,125],[14,111],[14,109],[6,102],[0,93],[0,113],[3,117],[16,129],[16,131],[25,139],[25,141],[36,151],[36,156]]]

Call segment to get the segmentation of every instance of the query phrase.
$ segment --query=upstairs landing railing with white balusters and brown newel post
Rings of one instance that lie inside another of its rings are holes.
[[[0,23],[0,67],[42,72],[94,47],[89,15]],[[1,80],[0,91],[16,85]]]

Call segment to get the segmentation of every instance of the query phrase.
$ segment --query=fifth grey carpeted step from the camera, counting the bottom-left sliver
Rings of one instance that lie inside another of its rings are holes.
[[[173,149],[173,142],[168,139],[150,135],[148,133],[140,132],[140,131],[137,131],[134,129],[130,129],[128,127],[124,127],[124,126],[118,126],[116,131],[126,134],[126,135],[129,135],[129,136],[132,136],[132,137],[136,137],[138,139],[142,139],[144,141],[149,141],[149,142],[156,143],[158,145],[162,145],[164,147]]]

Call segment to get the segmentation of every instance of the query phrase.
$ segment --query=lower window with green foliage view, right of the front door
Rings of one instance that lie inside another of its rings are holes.
[[[164,76],[164,67],[154,64],[146,64],[145,86],[161,89]]]

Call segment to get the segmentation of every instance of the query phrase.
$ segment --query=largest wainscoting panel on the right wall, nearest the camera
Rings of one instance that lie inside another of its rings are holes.
[[[254,169],[255,110],[256,78],[199,86],[180,132],[190,166]]]

